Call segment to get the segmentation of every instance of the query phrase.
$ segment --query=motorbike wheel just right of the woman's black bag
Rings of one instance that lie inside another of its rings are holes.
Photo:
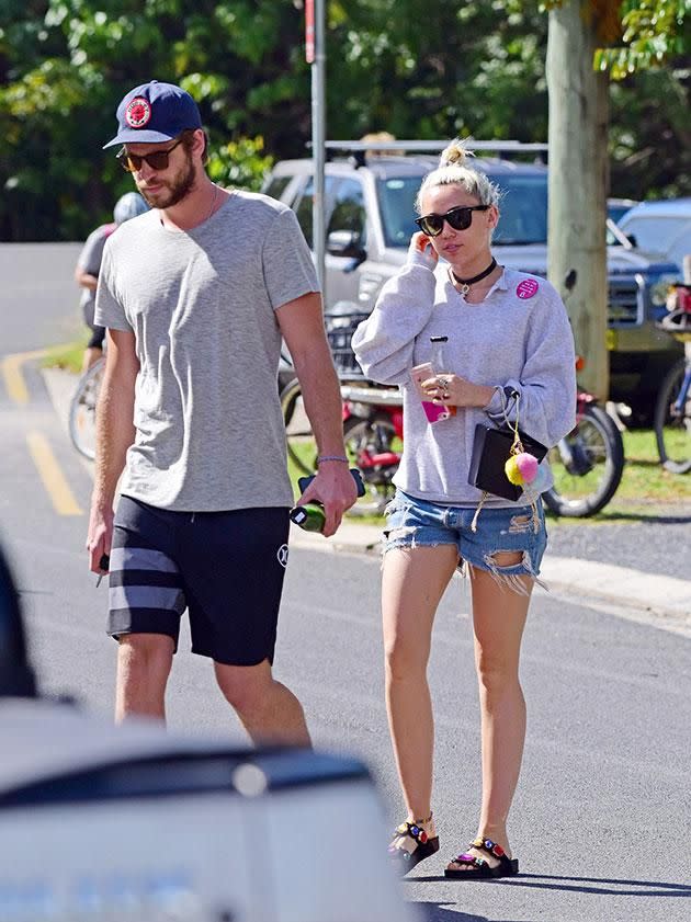
[[[576,428],[548,454],[554,487],[543,493],[556,515],[585,519],[600,512],[624,473],[624,443],[614,420],[597,405],[586,406]]]

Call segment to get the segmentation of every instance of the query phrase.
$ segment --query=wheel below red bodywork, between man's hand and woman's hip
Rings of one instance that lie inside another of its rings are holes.
[[[389,416],[375,412],[369,419],[350,417],[343,425],[351,466],[362,475],[366,493],[351,506],[351,515],[381,515],[394,494],[403,442]]]

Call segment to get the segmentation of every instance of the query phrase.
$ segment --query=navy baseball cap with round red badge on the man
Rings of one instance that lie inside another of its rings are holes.
[[[201,128],[202,117],[192,96],[174,83],[151,80],[135,87],[117,106],[118,130],[103,149],[116,144],[160,144],[186,128]]]

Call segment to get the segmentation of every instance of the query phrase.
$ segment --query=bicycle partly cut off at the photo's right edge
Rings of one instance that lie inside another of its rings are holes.
[[[691,285],[675,285],[669,314],[657,326],[684,343],[686,356],[672,365],[655,407],[655,439],[660,463],[671,474],[691,470]]]

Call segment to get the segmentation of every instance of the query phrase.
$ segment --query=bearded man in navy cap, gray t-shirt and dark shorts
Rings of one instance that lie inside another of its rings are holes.
[[[326,535],[355,500],[310,254],[284,205],[209,180],[179,87],[135,88],[117,122],[105,147],[122,146],[151,210],[107,241],[97,295],[109,343],[88,548],[98,573],[110,554],[116,719],[165,719],[186,607],[192,649],[213,659],[252,740],[308,745],[299,702],[271,671],[292,505],[282,337],[320,454],[302,499],[324,503]]]

